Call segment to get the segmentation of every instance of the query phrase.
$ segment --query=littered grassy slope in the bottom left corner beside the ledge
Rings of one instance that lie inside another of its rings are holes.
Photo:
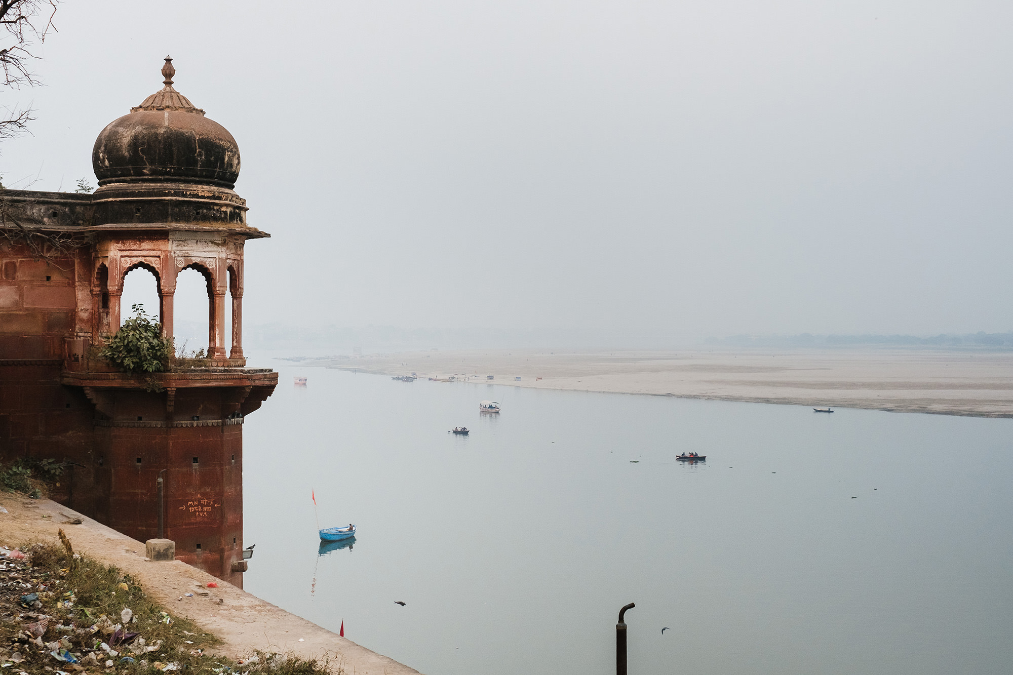
[[[75,554],[60,534],[63,546],[32,544],[22,547],[25,558],[0,557],[4,675],[343,672],[327,662],[267,652],[243,662],[208,655],[208,648],[220,644],[215,635],[165,611],[130,575]]]

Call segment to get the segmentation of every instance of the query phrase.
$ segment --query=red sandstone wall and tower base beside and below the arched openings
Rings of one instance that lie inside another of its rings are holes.
[[[121,376],[97,391],[62,384],[65,367],[84,366],[67,360],[67,346],[90,336],[89,255],[47,262],[0,246],[0,460],[70,460],[54,499],[142,541],[157,535],[166,469],[165,536],[177,557],[241,587],[232,564],[243,548],[242,421],[230,416],[259,407],[274,381],[182,376],[171,405],[166,392],[118,388]]]

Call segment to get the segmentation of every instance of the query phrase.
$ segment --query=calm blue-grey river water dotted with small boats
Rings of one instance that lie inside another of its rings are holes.
[[[423,673],[613,673],[628,602],[631,674],[1013,672],[1013,421],[279,370],[246,589]]]

